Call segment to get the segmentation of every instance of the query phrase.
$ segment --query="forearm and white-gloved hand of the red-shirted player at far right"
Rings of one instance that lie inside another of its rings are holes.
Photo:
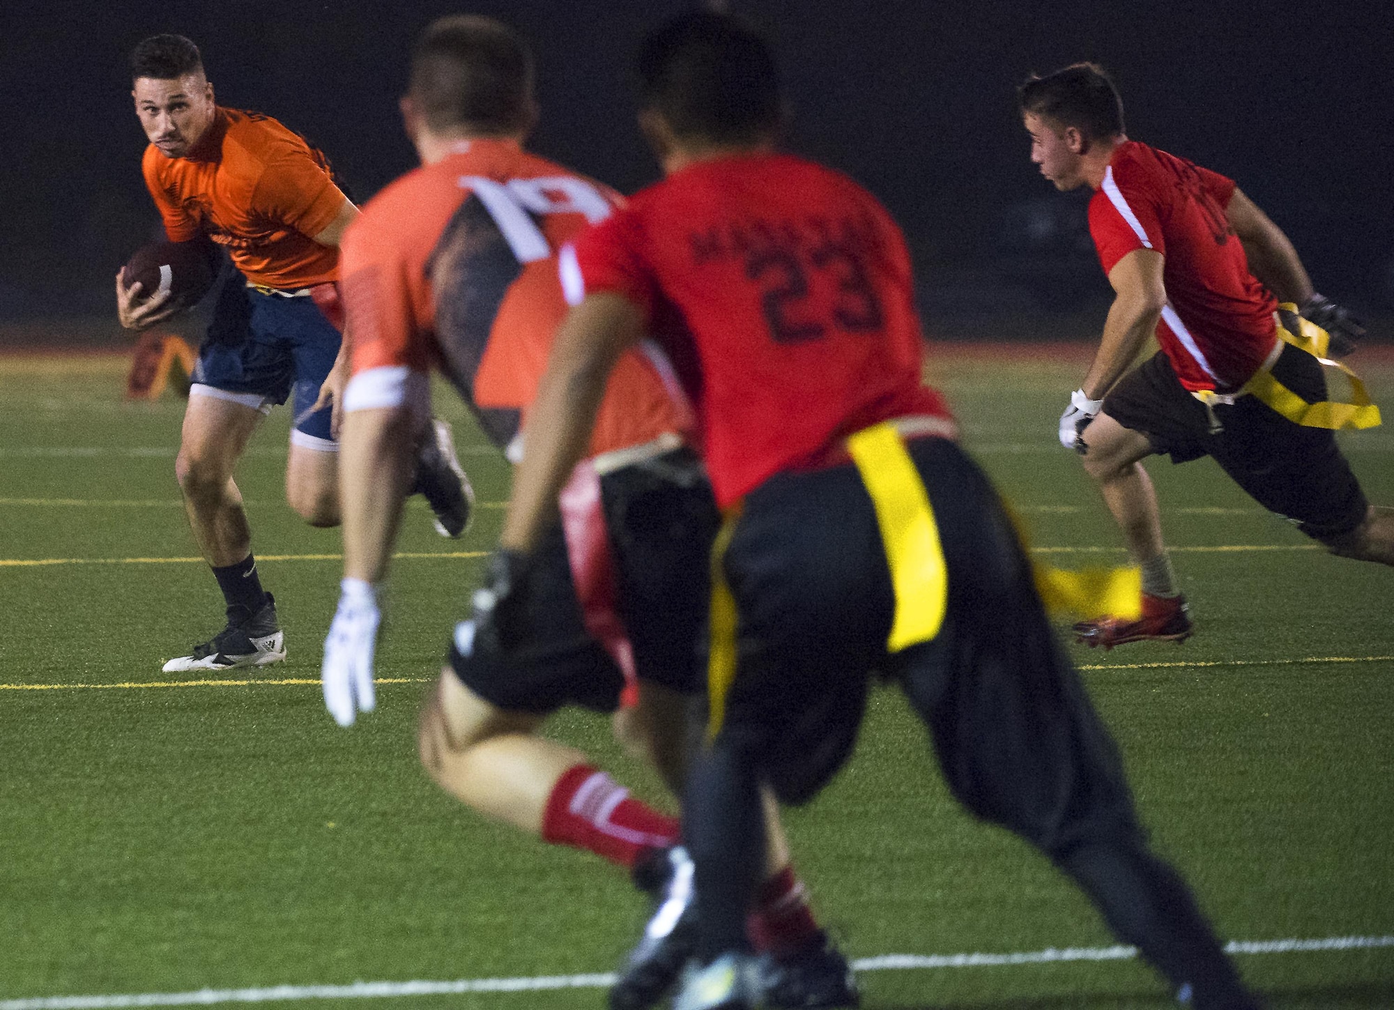
[[[1147,338],[1156,332],[1157,319],[1167,306],[1164,264],[1161,252],[1136,248],[1108,272],[1114,304],[1104,321],[1104,336],[1094,353],[1094,363],[1085,375],[1085,384],[1071,393],[1069,406],[1059,416],[1059,442],[1066,449],[1083,452],[1080,435],[1085,427],[1094,420],[1104,395],[1122,378]]]

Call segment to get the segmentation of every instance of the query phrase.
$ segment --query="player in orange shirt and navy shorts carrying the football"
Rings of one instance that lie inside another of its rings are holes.
[[[166,672],[226,670],[286,658],[276,604],[262,589],[233,470],[272,405],[294,392],[286,499],[312,526],[339,523],[335,368],[339,331],[316,300],[337,301],[339,240],[358,209],[304,138],[259,113],[213,100],[198,47],[156,35],[131,56],[135,113],[151,144],[145,184],[174,243],[223,246],[229,275],[194,368],[176,473],[194,537],[227,603],[227,626]],[[311,296],[315,292],[316,297]],[[116,278],[117,312],[145,329],[178,311],[171,292]],[[473,498],[449,428],[424,441],[417,490],[438,529],[459,536]]]

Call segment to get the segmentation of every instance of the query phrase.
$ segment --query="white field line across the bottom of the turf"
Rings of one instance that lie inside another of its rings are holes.
[[[1394,947],[1394,936],[1327,936],[1315,940],[1241,940],[1225,944],[1230,954],[1291,954],[1324,950]],[[852,963],[856,971],[906,971],[935,968],[999,968],[1061,961],[1126,961],[1136,947],[1065,947],[1009,954],[882,954]],[[613,972],[594,975],[538,975],[533,978],[460,978],[449,982],[354,982],[351,985],[276,985],[256,989],[195,989],[113,996],[40,996],[0,1000],[0,1010],[116,1010],[146,1006],[212,1006],[215,1003],[273,1003],[304,999],[382,999],[395,996],[457,996],[485,992],[539,992],[548,989],[605,989]]]

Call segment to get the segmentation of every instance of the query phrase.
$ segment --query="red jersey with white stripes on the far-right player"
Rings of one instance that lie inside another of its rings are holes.
[[[1089,232],[1105,273],[1133,250],[1165,257],[1157,343],[1190,391],[1238,389],[1277,340],[1277,301],[1249,273],[1225,219],[1234,188],[1217,172],[1128,141],[1089,201]]]

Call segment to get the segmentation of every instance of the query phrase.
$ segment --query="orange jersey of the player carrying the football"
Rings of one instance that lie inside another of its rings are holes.
[[[152,144],[141,172],[170,241],[206,234],[248,280],[268,287],[339,278],[339,250],[311,236],[347,198],[329,160],[270,116],[219,107],[187,156],[166,158]]]

